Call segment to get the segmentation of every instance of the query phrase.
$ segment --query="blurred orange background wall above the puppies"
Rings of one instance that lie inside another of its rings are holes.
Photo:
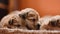
[[[5,0],[5,2],[5,9],[8,9],[8,13],[24,8],[34,8],[41,17],[60,14],[60,0]]]

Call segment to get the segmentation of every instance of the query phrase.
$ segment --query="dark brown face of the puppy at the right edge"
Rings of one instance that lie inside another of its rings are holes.
[[[49,21],[47,30],[60,30],[60,19]]]

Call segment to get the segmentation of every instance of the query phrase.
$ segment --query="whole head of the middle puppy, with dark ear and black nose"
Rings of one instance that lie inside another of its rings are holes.
[[[28,29],[36,30],[36,29],[40,28],[40,24],[38,23],[40,16],[36,10],[34,10],[32,8],[26,8],[26,9],[22,10],[21,13],[22,13],[22,18],[23,18],[23,20],[25,20],[26,27]],[[20,17],[21,17],[21,15],[20,15]]]

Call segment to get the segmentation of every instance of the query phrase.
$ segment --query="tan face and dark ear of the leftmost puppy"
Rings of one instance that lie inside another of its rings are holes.
[[[3,27],[7,28],[19,28],[20,25],[21,25],[21,19],[18,19],[17,17],[11,17],[7,22],[3,23]]]

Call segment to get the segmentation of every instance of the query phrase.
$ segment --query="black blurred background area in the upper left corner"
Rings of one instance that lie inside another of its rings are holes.
[[[0,20],[8,14],[9,0],[0,0]]]

